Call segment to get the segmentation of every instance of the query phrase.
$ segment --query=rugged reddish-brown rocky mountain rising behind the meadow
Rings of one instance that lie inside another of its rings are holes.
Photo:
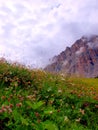
[[[98,36],[83,36],[71,47],[53,58],[46,71],[63,72],[84,77],[98,76]]]

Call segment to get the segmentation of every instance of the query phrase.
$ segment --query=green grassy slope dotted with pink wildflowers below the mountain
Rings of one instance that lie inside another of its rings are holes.
[[[0,130],[98,130],[98,79],[1,61]]]

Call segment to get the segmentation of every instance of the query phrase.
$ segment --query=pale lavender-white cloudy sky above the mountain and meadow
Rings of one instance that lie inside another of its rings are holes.
[[[0,0],[0,57],[32,67],[98,34],[97,0]]]

